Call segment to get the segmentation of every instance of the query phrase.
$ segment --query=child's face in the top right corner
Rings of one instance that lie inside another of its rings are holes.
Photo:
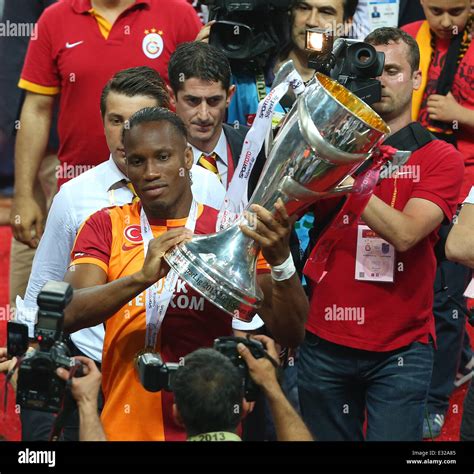
[[[422,0],[430,28],[440,39],[450,39],[464,30],[469,19],[471,0]]]

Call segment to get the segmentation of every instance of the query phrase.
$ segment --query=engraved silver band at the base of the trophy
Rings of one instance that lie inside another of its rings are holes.
[[[259,295],[243,292],[226,275],[207,265],[199,254],[191,253],[186,244],[173,247],[164,258],[182,280],[212,304],[236,319],[252,320],[262,299]]]

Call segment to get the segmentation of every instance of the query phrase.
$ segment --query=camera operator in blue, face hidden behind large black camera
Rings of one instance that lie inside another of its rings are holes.
[[[278,51],[288,41],[287,12],[291,0],[249,2],[209,0],[210,19],[196,41],[223,51],[232,68],[237,90],[229,104],[227,123],[252,125],[258,103],[270,91]],[[274,119],[284,110],[276,106]]]

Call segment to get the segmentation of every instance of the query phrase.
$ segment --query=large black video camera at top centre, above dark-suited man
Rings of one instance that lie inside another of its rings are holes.
[[[229,58],[232,70],[256,71],[284,43],[291,0],[207,0],[212,25],[209,44]]]

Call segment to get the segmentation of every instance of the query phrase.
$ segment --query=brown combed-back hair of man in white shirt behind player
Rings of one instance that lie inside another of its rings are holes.
[[[154,69],[148,66],[131,67],[114,74],[102,89],[100,96],[102,117],[105,115],[105,102],[110,92],[127,97],[142,95],[155,99],[159,107],[169,108],[170,106],[170,97],[166,90],[165,81]]]

